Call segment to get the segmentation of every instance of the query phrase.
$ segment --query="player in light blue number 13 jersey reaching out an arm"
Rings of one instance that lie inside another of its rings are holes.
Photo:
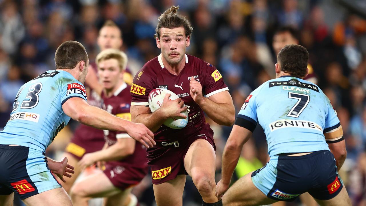
[[[0,132],[0,205],[12,206],[14,192],[26,205],[72,205],[62,181],[70,177],[67,158],[45,157],[45,150],[70,118],[98,129],[127,132],[146,147],[155,142],[143,124],[135,124],[86,102],[83,86],[89,59],[77,41],[57,48],[56,70],[46,71],[24,84],[15,97],[10,120]]]

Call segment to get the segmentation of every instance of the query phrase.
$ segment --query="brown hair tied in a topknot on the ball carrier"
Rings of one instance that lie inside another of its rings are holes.
[[[184,31],[187,36],[191,36],[193,27],[191,26],[191,23],[188,21],[188,19],[184,16],[178,15],[179,6],[170,7],[168,10],[164,11],[163,14],[161,14],[158,18],[158,25],[155,29],[154,38],[160,39],[160,29],[162,27],[168,28],[168,29],[174,29],[177,27],[183,27]]]

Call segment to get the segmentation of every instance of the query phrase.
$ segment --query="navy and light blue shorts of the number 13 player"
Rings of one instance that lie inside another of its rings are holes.
[[[60,188],[42,151],[0,144],[0,195],[19,194],[20,199]]]

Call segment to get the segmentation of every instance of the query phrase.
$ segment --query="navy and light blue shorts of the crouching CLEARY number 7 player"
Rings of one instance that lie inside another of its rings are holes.
[[[268,198],[287,202],[305,192],[315,199],[332,199],[343,187],[334,156],[328,150],[303,156],[275,155],[251,174],[251,180]]]

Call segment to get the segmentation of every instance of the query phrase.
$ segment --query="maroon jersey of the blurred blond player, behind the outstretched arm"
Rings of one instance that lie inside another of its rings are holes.
[[[131,121],[131,113],[130,113],[130,104],[131,104],[131,94],[130,94],[130,86],[127,86],[126,83],[123,83],[120,88],[111,96],[106,97],[104,93],[102,93],[103,98],[103,108],[107,112],[116,115],[117,117],[121,117],[128,121]],[[120,138],[132,138],[126,132],[116,132],[111,130],[104,130],[104,139],[108,143],[109,146],[116,143],[117,139]],[[141,143],[136,141],[135,152],[134,154],[123,158],[118,161],[123,166],[133,166],[135,168],[146,168],[147,160],[146,160],[146,147],[144,147]]]

